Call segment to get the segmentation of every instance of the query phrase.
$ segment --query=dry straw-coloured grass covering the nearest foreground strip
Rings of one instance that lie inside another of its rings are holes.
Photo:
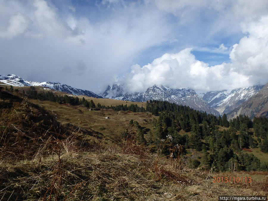
[[[268,177],[262,172],[209,173],[202,168],[189,169],[186,164],[178,169],[170,165],[166,157],[159,158],[145,149],[134,154],[117,145],[95,144],[81,153],[76,151],[75,144],[71,139],[58,141],[54,151],[43,155],[41,161],[38,158],[2,161],[0,198],[64,200],[68,196],[67,200],[217,200],[219,195],[268,193]],[[213,183],[213,177],[222,176],[251,176],[252,183]]]

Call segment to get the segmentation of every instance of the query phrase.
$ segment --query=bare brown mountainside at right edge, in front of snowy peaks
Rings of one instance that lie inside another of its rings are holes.
[[[254,96],[228,114],[228,119],[239,115],[268,117],[268,83]]]

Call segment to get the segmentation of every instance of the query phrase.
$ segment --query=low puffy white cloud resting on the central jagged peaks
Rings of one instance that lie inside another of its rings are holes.
[[[231,64],[208,66],[196,60],[191,49],[164,54],[143,67],[131,67],[121,80],[130,92],[142,92],[154,84],[171,88],[194,88],[197,91],[222,90],[249,85],[248,77],[234,71]]]

